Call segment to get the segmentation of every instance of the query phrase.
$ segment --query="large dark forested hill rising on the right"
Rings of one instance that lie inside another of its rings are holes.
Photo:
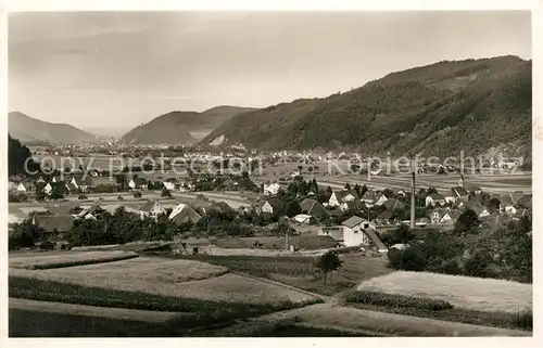
[[[529,155],[531,70],[531,61],[517,56],[439,62],[237,115],[200,144],[447,156],[514,143]]]

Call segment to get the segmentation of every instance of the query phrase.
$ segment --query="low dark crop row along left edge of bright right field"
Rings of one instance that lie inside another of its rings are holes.
[[[447,310],[453,305],[440,299],[386,294],[369,291],[351,292],[344,297],[346,302],[374,305],[389,308],[417,308],[422,310]]]

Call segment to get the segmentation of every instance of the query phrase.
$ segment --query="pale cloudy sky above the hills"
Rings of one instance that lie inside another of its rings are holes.
[[[443,60],[531,53],[530,12],[9,16],[9,109],[83,129],[327,96]]]

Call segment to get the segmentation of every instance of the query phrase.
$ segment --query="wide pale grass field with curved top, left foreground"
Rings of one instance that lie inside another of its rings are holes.
[[[202,300],[248,304],[312,300],[308,295],[237,274],[224,274],[226,269],[222,267],[192,260],[149,258],[119,262],[39,271],[10,269],[10,275]],[[189,281],[194,278],[201,280]]]

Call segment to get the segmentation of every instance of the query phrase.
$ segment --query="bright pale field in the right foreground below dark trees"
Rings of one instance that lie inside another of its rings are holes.
[[[425,272],[393,272],[362,282],[359,291],[421,296],[483,312],[516,313],[532,308],[532,285]]]

